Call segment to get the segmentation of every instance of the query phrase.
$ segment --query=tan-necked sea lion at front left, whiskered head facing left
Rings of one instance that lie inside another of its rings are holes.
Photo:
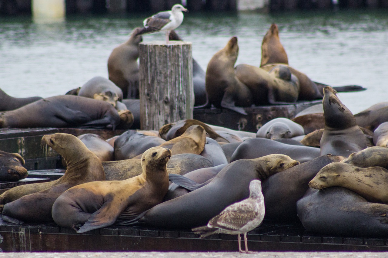
[[[0,196],[2,219],[12,223],[51,222],[51,207],[64,191],[78,184],[105,180],[99,158],[80,139],[71,134],[44,135],[42,143],[66,161],[66,172],[52,182],[11,188]]]

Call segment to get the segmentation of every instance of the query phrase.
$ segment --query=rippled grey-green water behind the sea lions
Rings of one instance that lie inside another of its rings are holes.
[[[69,16],[36,24],[30,17],[0,17],[0,88],[11,96],[49,97],[107,77],[107,58],[149,14],[126,17]],[[261,43],[271,23],[279,26],[289,64],[332,86],[367,88],[340,93],[355,114],[388,101],[386,10],[340,10],[279,14],[185,14],[177,33],[192,42],[193,57],[206,70],[232,36],[239,39],[236,64],[260,65]],[[144,41],[164,40],[164,33]]]

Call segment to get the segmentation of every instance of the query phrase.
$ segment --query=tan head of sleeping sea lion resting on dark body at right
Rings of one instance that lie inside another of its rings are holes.
[[[319,170],[317,175],[308,183],[308,186],[314,189],[324,189],[331,186],[338,186],[341,176],[341,171],[348,170],[350,165],[341,162],[333,162]]]

